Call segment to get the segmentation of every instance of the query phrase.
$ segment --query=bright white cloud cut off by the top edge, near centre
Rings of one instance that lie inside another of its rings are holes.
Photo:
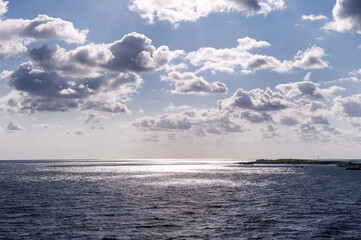
[[[285,8],[283,0],[131,0],[129,9],[138,12],[148,23],[169,21],[174,26],[181,22],[195,22],[210,13],[245,12],[247,16],[268,14]]]

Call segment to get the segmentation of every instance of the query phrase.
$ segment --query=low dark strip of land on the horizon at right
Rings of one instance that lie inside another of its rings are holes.
[[[310,159],[257,159],[253,162],[238,163],[241,165],[254,165],[254,164],[303,164],[303,165],[336,165],[339,167],[346,167],[347,170],[361,170],[361,163],[359,162],[345,162],[345,161],[325,161],[325,160],[310,160]]]

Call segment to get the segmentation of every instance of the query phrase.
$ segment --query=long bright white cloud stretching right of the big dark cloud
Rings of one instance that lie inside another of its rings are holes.
[[[212,47],[200,48],[186,55],[192,65],[199,67],[197,72],[212,71],[233,73],[239,70],[241,73],[253,73],[255,70],[271,70],[279,73],[287,73],[293,68],[320,69],[329,67],[322,58],[325,52],[322,48],[313,46],[306,51],[299,51],[294,60],[280,61],[272,56],[250,53],[249,50],[259,47],[271,46],[265,41],[245,37],[238,39],[236,48],[216,49]]]

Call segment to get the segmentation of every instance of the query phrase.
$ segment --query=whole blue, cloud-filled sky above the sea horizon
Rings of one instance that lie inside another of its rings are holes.
[[[0,159],[360,158],[359,0],[0,0]]]

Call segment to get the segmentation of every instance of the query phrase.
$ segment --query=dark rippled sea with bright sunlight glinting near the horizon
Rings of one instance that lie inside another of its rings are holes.
[[[361,171],[0,162],[0,239],[361,239]]]

